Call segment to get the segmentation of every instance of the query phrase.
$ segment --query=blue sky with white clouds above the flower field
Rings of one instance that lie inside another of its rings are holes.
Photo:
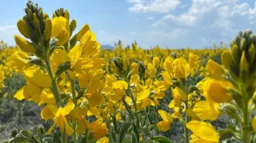
[[[1,0],[0,39],[15,45],[26,0]],[[255,0],[33,0],[49,15],[67,9],[77,30],[88,23],[102,45],[205,48],[229,44],[239,30],[256,32]]]

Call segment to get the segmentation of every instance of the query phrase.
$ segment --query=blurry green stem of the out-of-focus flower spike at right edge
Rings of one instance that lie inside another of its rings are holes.
[[[249,143],[250,142],[250,133],[249,133],[249,126],[250,126],[250,117],[248,112],[248,99],[247,99],[247,92],[246,86],[241,85],[241,92],[244,100],[243,105],[243,123],[242,123],[242,143]]]

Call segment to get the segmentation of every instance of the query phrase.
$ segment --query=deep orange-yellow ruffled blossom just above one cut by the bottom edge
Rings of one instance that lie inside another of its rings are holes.
[[[106,128],[106,124],[103,123],[103,119],[99,118],[95,122],[91,123],[91,128],[89,128],[89,131],[93,132],[94,139],[99,140],[108,133],[108,128]]]

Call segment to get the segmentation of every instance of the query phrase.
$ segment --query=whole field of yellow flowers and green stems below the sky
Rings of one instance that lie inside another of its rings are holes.
[[[26,3],[0,42],[4,143],[256,143],[256,35],[230,46],[101,50],[63,8]]]

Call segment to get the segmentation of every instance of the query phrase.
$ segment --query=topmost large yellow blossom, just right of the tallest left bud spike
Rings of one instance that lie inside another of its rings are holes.
[[[57,38],[57,46],[62,46],[70,38],[70,28],[69,23],[66,18],[63,16],[54,17],[51,21],[52,24],[52,33],[53,38]]]

